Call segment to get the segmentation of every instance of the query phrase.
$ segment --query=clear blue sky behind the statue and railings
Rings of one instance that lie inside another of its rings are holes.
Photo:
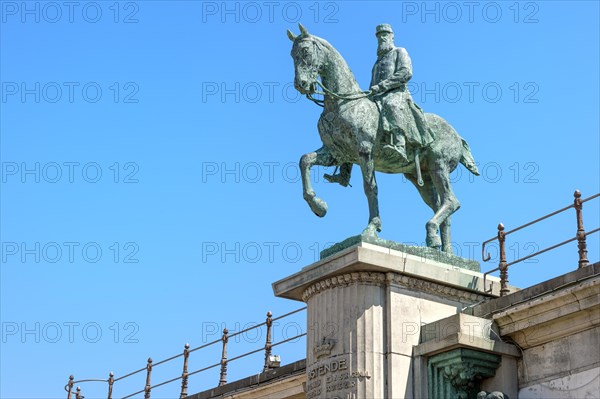
[[[217,327],[296,309],[271,283],[364,228],[359,173],[344,189],[316,170],[324,219],[302,199],[297,161],[321,144],[320,109],[291,85],[285,31],[298,21],[364,89],[375,26],[393,25],[415,101],[468,140],[482,171],[453,174],[459,255],[479,260],[500,221],[515,227],[569,204],[576,188],[599,191],[596,1],[0,4],[2,398],[63,398],[71,373],[123,375],[217,338]],[[399,175],[378,182],[381,237],[422,243],[430,211],[415,188]],[[598,208],[584,209],[589,229]],[[509,259],[574,233],[569,211],[511,236]],[[515,266],[511,284],[574,269],[576,249],[536,261]],[[276,338],[305,328],[303,317]],[[262,345],[242,341],[232,356]],[[289,363],[304,350],[276,352]],[[197,369],[219,354],[192,359]],[[254,359],[232,363],[230,380],[258,372]],[[192,378],[190,392],[217,380],[214,370]]]

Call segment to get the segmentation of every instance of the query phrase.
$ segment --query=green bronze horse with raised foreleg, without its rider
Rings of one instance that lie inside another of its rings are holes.
[[[302,25],[299,24],[299,27],[301,34],[298,36],[289,30],[287,32],[294,42],[291,52],[295,67],[294,86],[309,98],[317,93],[317,85],[324,90],[321,93],[324,94],[324,108],[318,122],[323,146],[304,154],[300,159],[302,189],[310,209],[319,217],[327,213],[326,202],[315,195],[311,185],[311,167],[340,166],[339,175],[326,177],[346,186],[352,165],[357,164],[362,171],[369,204],[369,222],[362,234],[376,235],[381,231],[381,219],[375,171],[404,173],[434,212],[426,224],[427,246],[441,247],[441,250],[452,253],[450,216],[460,207],[460,203],[452,192],[450,173],[461,163],[473,174],[479,175],[466,141],[444,119],[426,113],[425,118],[435,133],[435,140],[422,149],[420,155],[416,154],[420,171],[414,160],[401,164],[399,159],[384,155],[382,148],[385,139],[379,128],[377,105],[361,91],[348,64],[337,50],[326,40],[309,34]],[[420,172],[422,180],[419,179]]]

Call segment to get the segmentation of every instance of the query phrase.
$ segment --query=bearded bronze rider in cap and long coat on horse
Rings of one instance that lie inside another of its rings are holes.
[[[433,141],[433,133],[415,104],[407,87],[412,77],[412,64],[406,50],[394,45],[394,32],[388,24],[378,25],[377,61],[373,66],[370,94],[381,112],[381,128],[390,142],[384,152],[396,153],[408,162],[406,145],[418,150]]]

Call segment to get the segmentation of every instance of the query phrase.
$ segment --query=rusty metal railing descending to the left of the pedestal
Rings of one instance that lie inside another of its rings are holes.
[[[69,376],[69,382],[67,382],[67,384],[65,385],[65,391],[67,392],[67,399],[73,399],[73,394],[75,394],[75,398],[74,399],[83,399],[84,396],[83,396],[83,394],[81,392],[81,387],[77,386],[75,389],[73,389],[73,388],[76,386],[76,384],[85,383],[85,382],[102,382],[102,383],[106,383],[107,384],[107,391],[108,391],[108,393],[107,393],[107,399],[113,399],[113,388],[114,388],[114,385],[115,385],[116,382],[122,381],[122,380],[124,380],[124,379],[126,379],[128,377],[131,377],[133,375],[142,373],[144,371],[146,372],[146,383],[144,385],[144,388],[141,389],[141,390],[138,390],[137,392],[133,392],[133,393],[128,394],[126,396],[122,396],[121,399],[128,399],[128,398],[131,398],[131,397],[133,397],[135,395],[139,395],[139,394],[142,394],[142,393],[144,394],[144,399],[150,399],[150,395],[151,395],[152,389],[161,387],[163,385],[167,385],[167,384],[173,383],[173,382],[178,381],[178,380],[181,380],[181,389],[180,389],[180,392],[179,392],[179,398],[183,399],[183,398],[185,398],[185,397],[188,396],[188,392],[187,392],[187,389],[188,389],[188,378],[190,376],[192,376],[194,374],[201,373],[201,372],[206,371],[206,370],[210,370],[210,369],[215,368],[217,366],[221,366],[221,371],[220,371],[220,374],[219,374],[218,386],[223,386],[223,385],[227,384],[227,366],[228,366],[229,363],[231,363],[231,362],[233,362],[235,360],[241,359],[243,357],[252,355],[254,353],[262,352],[262,351],[265,352],[265,361],[264,361],[264,366],[263,366],[263,372],[271,370],[273,368],[276,368],[276,367],[273,366],[273,362],[272,362],[272,359],[271,359],[272,349],[275,346],[278,346],[278,345],[281,345],[281,344],[285,344],[287,342],[293,341],[295,339],[301,338],[301,337],[303,337],[303,336],[306,335],[306,333],[302,333],[302,334],[298,334],[298,335],[296,335],[294,337],[287,338],[287,339],[284,339],[282,341],[273,343],[272,342],[272,326],[273,326],[273,322],[277,321],[277,320],[280,320],[280,319],[283,319],[285,317],[291,316],[291,315],[293,315],[295,313],[298,313],[298,312],[301,312],[303,310],[306,310],[306,307],[303,307],[303,308],[300,308],[300,309],[296,309],[296,310],[294,310],[292,312],[286,313],[286,314],[284,314],[282,316],[279,316],[279,317],[276,317],[276,318],[273,318],[273,314],[271,312],[267,312],[267,319],[263,323],[261,323],[261,324],[257,324],[256,326],[252,326],[250,328],[246,328],[246,329],[238,331],[238,332],[236,332],[234,334],[229,334],[229,331],[227,330],[227,328],[225,328],[225,329],[223,329],[223,335],[219,339],[216,339],[216,340],[214,340],[212,342],[209,342],[207,344],[198,346],[198,347],[193,348],[193,349],[190,349],[190,344],[185,344],[182,353],[174,355],[174,356],[171,356],[171,357],[169,357],[167,359],[161,360],[161,361],[156,362],[156,363],[154,363],[152,361],[152,358],[148,358],[148,361],[147,361],[145,367],[140,368],[138,370],[135,370],[135,371],[133,371],[131,373],[125,374],[125,375],[123,375],[121,377],[118,377],[118,378],[115,378],[113,372],[109,373],[108,379],[84,379],[84,380],[77,380],[76,381],[75,377],[73,377],[73,375],[71,375],[71,376]],[[256,349],[256,350],[253,350],[253,351],[250,351],[250,352],[246,352],[246,353],[244,353],[242,355],[236,356],[236,357],[231,358],[231,359],[227,358],[227,344],[228,344],[230,338],[233,338],[233,337],[235,337],[237,335],[240,335],[240,334],[244,334],[244,333],[246,333],[248,331],[251,331],[251,330],[254,330],[254,329],[257,329],[257,328],[261,328],[262,326],[266,326],[266,328],[267,328],[266,341],[265,341],[265,345],[263,347],[261,347],[259,349]],[[192,371],[192,372],[188,371],[188,359],[189,359],[189,356],[190,356],[190,354],[192,352],[195,352],[195,351],[203,349],[203,348],[207,348],[209,346],[212,346],[212,345],[215,345],[215,344],[218,344],[218,343],[222,343],[222,345],[223,345],[222,349],[221,349],[221,360],[218,363],[214,363],[214,364],[212,364],[210,366],[207,366],[207,367],[204,367],[204,368]],[[152,383],[151,383],[152,370],[155,367],[157,367],[157,366],[159,366],[161,364],[165,364],[167,362],[170,362],[172,360],[178,359],[180,357],[183,357],[183,368],[182,368],[181,375],[179,375],[177,377],[174,377],[174,378],[171,378],[170,380],[163,381],[163,382],[160,382],[158,384],[152,385]]]

